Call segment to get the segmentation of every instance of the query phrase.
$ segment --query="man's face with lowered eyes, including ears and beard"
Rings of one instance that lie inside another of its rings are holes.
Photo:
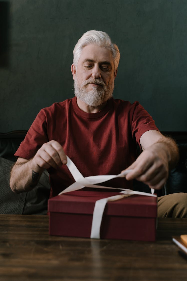
[[[110,50],[96,45],[84,47],[77,67],[72,65],[71,71],[75,96],[81,101],[97,107],[112,97],[117,70]]]

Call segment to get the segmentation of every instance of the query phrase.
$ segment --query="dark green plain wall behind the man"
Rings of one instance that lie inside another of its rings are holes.
[[[140,101],[160,130],[186,131],[186,0],[9,2],[0,132],[28,129],[41,108],[73,97],[72,51],[93,29],[107,32],[121,52],[114,97]]]

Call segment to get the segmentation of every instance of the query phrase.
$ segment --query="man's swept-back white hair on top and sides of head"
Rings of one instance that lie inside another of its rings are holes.
[[[87,45],[96,45],[104,47],[112,52],[114,58],[114,68],[117,69],[119,65],[120,53],[116,44],[113,44],[107,33],[103,31],[90,30],[82,35],[78,40],[73,50],[73,64],[77,67],[82,49]]]

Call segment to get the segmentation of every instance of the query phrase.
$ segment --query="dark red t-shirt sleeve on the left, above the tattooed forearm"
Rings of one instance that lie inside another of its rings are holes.
[[[29,160],[48,141],[46,115],[41,109],[14,155]]]

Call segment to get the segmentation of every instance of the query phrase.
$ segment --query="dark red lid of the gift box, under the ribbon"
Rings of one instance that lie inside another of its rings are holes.
[[[93,214],[95,202],[102,198],[119,195],[119,192],[72,191],[48,200],[48,212]],[[108,202],[105,215],[156,217],[157,197],[131,195]]]

